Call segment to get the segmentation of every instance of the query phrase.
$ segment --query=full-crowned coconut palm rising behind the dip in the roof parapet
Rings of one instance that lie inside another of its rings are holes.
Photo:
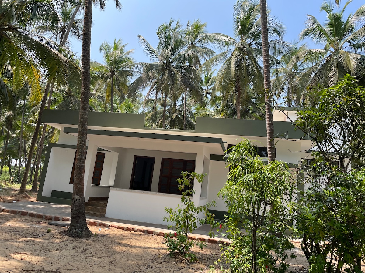
[[[165,128],[168,97],[170,103],[176,106],[185,89],[195,90],[198,87],[195,84],[196,69],[187,64],[188,58],[184,52],[187,42],[180,22],[174,24],[174,21],[170,20],[169,23],[160,25],[156,34],[159,39],[156,48],[152,47],[143,36],[138,36],[143,50],[153,63],[137,64],[142,69],[142,75],[134,80],[130,88],[131,90],[149,88],[146,98],[154,98],[155,103],[158,101],[157,98],[161,97],[163,110],[160,126]]]

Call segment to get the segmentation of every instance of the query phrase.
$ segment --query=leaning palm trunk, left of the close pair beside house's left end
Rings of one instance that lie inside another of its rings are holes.
[[[48,91],[49,91],[50,85],[51,85],[50,82],[48,82],[47,85],[46,85],[45,94],[43,95],[43,99],[42,99],[42,103],[41,103],[41,108],[39,109],[38,120],[37,120],[37,124],[35,126],[34,134],[33,134],[33,137],[32,137],[32,142],[31,142],[29,150],[28,150],[28,161],[27,161],[27,165],[26,165],[25,170],[24,170],[24,176],[23,176],[23,179],[22,179],[22,184],[20,185],[19,194],[25,193],[25,187],[27,185],[28,174],[29,174],[29,169],[30,169],[30,163],[32,162],[35,143],[37,142],[39,128],[41,127],[42,114],[43,114],[43,110],[46,106],[46,100],[48,98]]]

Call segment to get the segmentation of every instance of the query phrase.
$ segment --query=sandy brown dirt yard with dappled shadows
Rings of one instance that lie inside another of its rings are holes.
[[[3,192],[1,202],[35,199],[26,196],[20,199],[14,192],[9,190],[8,195]],[[48,228],[51,228],[49,233]],[[48,221],[39,218],[0,213],[0,273],[220,272],[220,265],[211,268],[220,258],[219,245],[208,244],[203,250],[195,247],[193,252],[199,261],[190,264],[179,257],[169,257],[164,238],[160,236],[89,226],[95,235],[81,240],[64,236],[61,231],[65,229],[48,225]],[[292,265],[289,270],[307,272],[303,252],[296,247],[294,253],[297,259],[289,261]],[[221,265],[227,268],[224,263]]]

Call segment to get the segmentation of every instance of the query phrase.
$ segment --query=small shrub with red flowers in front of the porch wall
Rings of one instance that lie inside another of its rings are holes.
[[[203,241],[189,240],[188,234],[192,233],[197,229],[197,224],[203,225],[207,223],[212,226],[212,229],[216,226],[214,221],[214,215],[209,212],[209,208],[215,206],[215,201],[206,203],[203,206],[195,206],[194,202],[191,200],[195,190],[193,189],[192,182],[196,178],[198,183],[202,183],[204,180],[204,174],[182,172],[181,178],[177,179],[179,183],[178,189],[181,190],[181,203],[176,209],[170,207],[165,207],[165,211],[169,214],[169,217],[164,217],[164,221],[171,222],[173,225],[168,225],[167,228],[175,228],[174,234],[167,233],[165,238],[165,244],[168,247],[170,256],[172,257],[174,253],[183,255],[185,258],[189,259],[190,262],[196,261],[197,258],[194,253],[189,250],[197,245],[201,249],[206,246]],[[205,218],[200,218],[200,215],[204,213]],[[210,236],[212,236],[212,232]]]

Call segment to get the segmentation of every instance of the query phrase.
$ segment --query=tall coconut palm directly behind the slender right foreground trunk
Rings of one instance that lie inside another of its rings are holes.
[[[269,37],[281,39],[284,26],[274,17],[269,18]],[[262,43],[260,5],[258,1],[238,0],[234,5],[235,38],[227,37],[227,50],[209,59],[203,67],[221,65],[214,86],[214,93],[228,99],[233,95],[237,118],[241,118],[241,107],[247,101],[247,90],[262,93]],[[270,47],[282,49],[286,44],[281,40],[270,41]]]

